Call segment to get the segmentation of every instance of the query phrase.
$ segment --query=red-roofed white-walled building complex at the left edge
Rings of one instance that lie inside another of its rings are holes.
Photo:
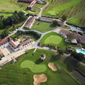
[[[33,40],[28,37],[22,43],[20,43],[16,38],[14,40],[12,38],[3,39],[0,42],[0,49],[10,46],[13,51],[18,51],[32,44],[32,42]]]

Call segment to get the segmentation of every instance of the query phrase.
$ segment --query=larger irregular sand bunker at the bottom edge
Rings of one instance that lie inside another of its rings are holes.
[[[34,75],[33,78],[34,78],[34,85],[40,85],[41,82],[47,81],[47,77],[45,74]]]

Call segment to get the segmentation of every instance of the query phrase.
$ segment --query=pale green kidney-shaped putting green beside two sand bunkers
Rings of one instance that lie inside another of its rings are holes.
[[[31,60],[24,60],[20,64],[21,68],[29,68],[34,73],[44,72],[46,70],[46,66],[43,64],[37,65]]]

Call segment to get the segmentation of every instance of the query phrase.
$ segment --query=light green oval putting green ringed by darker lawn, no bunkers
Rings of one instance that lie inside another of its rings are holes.
[[[45,44],[59,44],[62,41],[62,38],[60,36],[56,36],[56,35],[50,35],[49,37],[47,37],[44,41]]]

